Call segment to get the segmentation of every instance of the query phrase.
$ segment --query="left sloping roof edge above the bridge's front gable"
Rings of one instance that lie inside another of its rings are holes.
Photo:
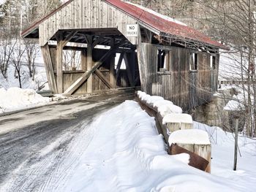
[[[48,15],[46,15],[44,18],[35,21],[34,23],[31,24],[31,26],[29,26],[29,28],[24,29],[21,32],[21,37],[26,37],[28,34],[31,33],[31,31],[34,31],[36,28],[39,27],[39,24],[41,24],[43,21],[45,21],[46,19],[50,18],[50,16],[54,15],[56,12],[58,12],[60,9],[62,9],[63,7],[66,7],[68,4],[70,4],[72,1],[74,0],[69,0],[64,4],[61,4],[61,6],[59,6],[58,8],[54,9],[52,12],[50,12]]]

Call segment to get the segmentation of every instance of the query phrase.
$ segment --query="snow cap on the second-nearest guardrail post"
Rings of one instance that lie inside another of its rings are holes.
[[[192,116],[186,113],[170,113],[162,119],[162,124],[165,123],[193,123]]]

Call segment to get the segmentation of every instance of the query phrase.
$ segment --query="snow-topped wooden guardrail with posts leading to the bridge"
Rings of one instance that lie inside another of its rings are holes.
[[[210,142],[202,144],[200,138],[196,139],[199,142],[188,141],[187,143],[184,143],[184,141],[176,141],[173,143],[169,140],[170,134],[184,134],[186,133],[186,130],[189,132],[193,129],[191,115],[182,113],[181,107],[178,107],[172,104],[171,101],[164,100],[159,96],[148,96],[146,93],[138,91],[135,92],[135,99],[138,101],[138,104],[140,104],[140,107],[143,110],[146,110],[148,115],[155,118],[157,130],[159,134],[163,135],[168,146],[167,151],[170,155],[188,153],[190,155],[189,165],[208,173],[211,172]],[[197,133],[197,131],[199,131],[200,134],[205,132],[197,129],[195,129],[194,132]],[[203,134],[207,133],[205,132]],[[208,134],[206,137],[208,137]],[[182,140],[186,140],[186,138]]]

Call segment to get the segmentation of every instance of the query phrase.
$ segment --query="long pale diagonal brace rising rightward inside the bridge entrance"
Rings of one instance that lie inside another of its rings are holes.
[[[76,82],[74,82],[69,88],[67,88],[67,90],[64,93],[71,95],[80,87],[80,85],[83,84],[83,82],[85,82],[86,80],[88,82],[91,74],[94,73],[99,68],[99,66],[101,66],[103,62],[106,61],[106,59],[108,59],[108,57],[116,51],[117,47],[118,45],[110,49],[108,53],[105,53],[105,55],[103,55],[102,58],[99,61],[97,61],[90,70],[87,69],[88,71],[86,71]]]

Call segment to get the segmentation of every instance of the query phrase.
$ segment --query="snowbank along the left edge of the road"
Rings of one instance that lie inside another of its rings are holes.
[[[5,90],[0,88],[0,112],[21,110],[49,102],[49,98],[40,96],[32,89],[9,88]]]

